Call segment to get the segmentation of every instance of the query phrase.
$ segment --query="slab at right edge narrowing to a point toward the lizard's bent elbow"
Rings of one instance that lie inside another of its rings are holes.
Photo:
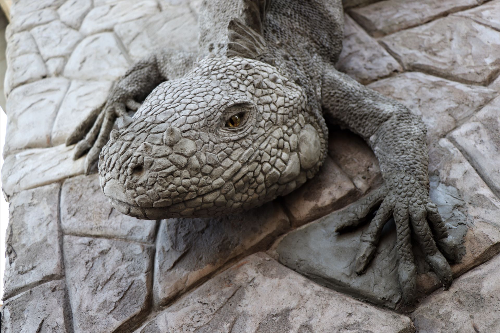
[[[500,97],[496,97],[450,138],[500,198]]]

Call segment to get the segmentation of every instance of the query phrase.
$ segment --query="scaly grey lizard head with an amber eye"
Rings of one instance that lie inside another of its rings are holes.
[[[99,156],[118,211],[144,219],[217,216],[285,195],[319,168],[325,139],[306,97],[266,63],[208,58],[145,99]]]

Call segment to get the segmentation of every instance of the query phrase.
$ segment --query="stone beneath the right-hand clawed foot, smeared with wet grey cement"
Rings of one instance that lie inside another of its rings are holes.
[[[451,240],[465,246],[461,263],[451,265],[453,276],[457,277],[500,251],[500,200],[448,140],[435,142],[429,155],[430,198],[449,227]],[[350,233],[335,233],[345,212],[333,212],[284,236],[275,246],[277,258],[319,284],[375,304],[399,308],[393,222],[386,224],[366,272],[356,275],[353,260],[361,232],[367,226]],[[413,251],[421,298],[435,290],[439,282],[416,246]]]

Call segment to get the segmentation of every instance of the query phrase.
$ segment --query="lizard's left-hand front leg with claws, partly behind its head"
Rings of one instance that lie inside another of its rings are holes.
[[[179,77],[191,68],[195,53],[158,50],[137,61],[115,84],[103,107],[92,110],[67,137],[66,146],[78,142],[73,159],[88,151],[85,174],[99,157],[117,117],[127,118],[126,110],[137,111],[142,101],[159,83]]]

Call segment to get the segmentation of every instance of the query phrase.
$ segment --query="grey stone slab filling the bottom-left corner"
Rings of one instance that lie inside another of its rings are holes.
[[[67,303],[65,286],[60,280],[30,289],[3,303],[1,332],[72,332]]]

